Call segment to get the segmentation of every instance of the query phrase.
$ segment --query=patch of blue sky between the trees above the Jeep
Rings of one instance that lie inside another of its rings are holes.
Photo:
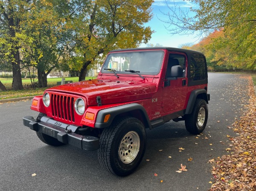
[[[152,4],[153,8],[153,18],[145,24],[145,26],[150,26],[151,30],[155,32],[151,35],[151,40],[148,43],[152,44],[161,44],[163,46],[175,47],[177,48],[181,44],[185,43],[197,43],[198,37],[196,35],[179,35],[179,34],[169,34],[168,30],[165,28],[166,23],[163,23],[161,20],[168,20],[168,17],[163,15],[160,11],[167,13],[169,8],[166,6],[166,1],[170,7],[175,5],[182,9],[189,9],[195,5],[186,0],[154,0]],[[158,17],[158,18],[157,18]],[[142,44],[140,47],[145,47],[145,44]]]

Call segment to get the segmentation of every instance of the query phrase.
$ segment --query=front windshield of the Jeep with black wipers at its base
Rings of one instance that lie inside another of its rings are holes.
[[[163,62],[163,51],[136,51],[108,54],[102,73],[130,74],[128,70],[140,74],[156,75],[159,73]],[[108,68],[108,70],[107,70]]]

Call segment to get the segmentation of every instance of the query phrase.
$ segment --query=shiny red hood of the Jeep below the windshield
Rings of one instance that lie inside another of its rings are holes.
[[[151,98],[149,82],[143,80],[121,81],[95,79],[55,86],[47,89],[47,91],[79,94],[87,99],[88,105],[97,105],[97,96],[101,97],[102,105]]]

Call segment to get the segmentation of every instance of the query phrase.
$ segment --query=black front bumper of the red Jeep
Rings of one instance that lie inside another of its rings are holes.
[[[61,124],[61,127],[58,127],[54,124]],[[88,151],[99,149],[99,138],[93,136],[82,136],[80,134],[73,133],[76,126],[58,123],[57,121],[52,120],[47,116],[42,117],[40,122],[35,122],[35,119],[31,116],[23,117],[23,125],[34,131],[38,131],[54,137],[61,143],[73,145]],[[63,128],[65,126],[68,126],[72,132],[66,133],[65,128]]]

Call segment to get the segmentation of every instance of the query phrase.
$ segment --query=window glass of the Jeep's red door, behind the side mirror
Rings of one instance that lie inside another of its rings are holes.
[[[181,66],[183,68],[183,77],[185,77],[185,61],[185,56],[182,54],[169,54],[166,78],[170,77],[172,66]]]

